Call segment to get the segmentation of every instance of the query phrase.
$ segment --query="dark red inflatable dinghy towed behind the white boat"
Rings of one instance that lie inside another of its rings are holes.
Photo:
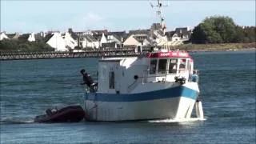
[[[60,110],[47,109],[46,114],[36,116],[34,122],[80,122],[84,117],[82,106],[66,106]]]

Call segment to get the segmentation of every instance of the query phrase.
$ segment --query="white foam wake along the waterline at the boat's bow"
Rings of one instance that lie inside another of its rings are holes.
[[[180,118],[180,119],[162,119],[162,120],[150,120],[148,122],[154,123],[171,123],[171,122],[195,122],[206,121],[206,118]]]

